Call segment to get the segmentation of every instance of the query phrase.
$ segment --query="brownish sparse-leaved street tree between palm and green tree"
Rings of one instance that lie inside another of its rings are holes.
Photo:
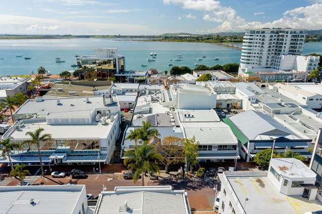
[[[174,136],[164,137],[159,140],[155,146],[156,151],[162,155],[161,163],[165,166],[165,172],[172,164],[178,164],[184,161],[183,139]]]

